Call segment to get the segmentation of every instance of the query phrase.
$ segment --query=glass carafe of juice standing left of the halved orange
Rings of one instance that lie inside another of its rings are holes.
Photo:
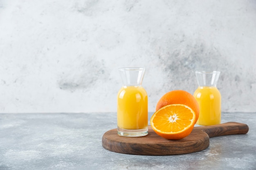
[[[142,87],[146,69],[119,68],[123,86],[117,94],[117,133],[120,136],[148,134],[148,95]]]

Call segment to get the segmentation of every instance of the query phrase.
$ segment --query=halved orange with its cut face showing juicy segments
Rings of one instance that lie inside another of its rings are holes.
[[[159,136],[179,140],[191,133],[195,116],[195,112],[186,105],[166,105],[153,114],[150,125]]]

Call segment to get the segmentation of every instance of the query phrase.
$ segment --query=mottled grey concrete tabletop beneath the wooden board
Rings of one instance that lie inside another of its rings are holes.
[[[255,170],[256,113],[222,113],[229,121],[249,132],[211,138],[200,152],[141,156],[102,147],[116,113],[0,114],[0,170]]]

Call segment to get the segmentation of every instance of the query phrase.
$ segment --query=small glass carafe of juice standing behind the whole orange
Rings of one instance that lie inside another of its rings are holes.
[[[216,85],[220,72],[195,71],[198,89],[194,97],[200,107],[198,125],[216,125],[221,122],[221,95]]]

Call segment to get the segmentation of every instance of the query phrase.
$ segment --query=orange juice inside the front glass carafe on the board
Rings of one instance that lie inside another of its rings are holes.
[[[142,86],[123,86],[119,90],[117,126],[131,130],[148,127],[148,95]]]

